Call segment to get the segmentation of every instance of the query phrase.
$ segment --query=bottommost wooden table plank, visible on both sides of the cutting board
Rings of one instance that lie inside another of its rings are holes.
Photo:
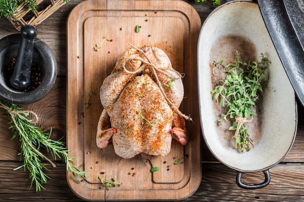
[[[52,178],[45,185],[46,190],[35,192],[30,187],[28,173],[22,170],[13,171],[20,164],[15,161],[0,161],[0,199],[1,202],[84,202],[78,198],[67,184],[65,165],[48,171]],[[304,165],[279,164],[270,169],[270,185],[262,189],[245,190],[235,184],[236,172],[226,166],[213,163],[203,164],[203,178],[198,190],[183,202],[281,202],[297,201],[304,198]],[[244,174],[244,182],[260,182],[262,173]],[[18,183],[17,183],[18,182]]]

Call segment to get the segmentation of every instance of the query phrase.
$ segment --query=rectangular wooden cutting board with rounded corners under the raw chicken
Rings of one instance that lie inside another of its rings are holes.
[[[139,32],[136,25],[141,26]],[[75,166],[84,164],[83,169],[90,171],[88,182],[80,184],[68,173],[69,186],[80,198],[175,201],[197,190],[202,177],[197,87],[200,29],[198,13],[181,0],[87,0],[71,11],[67,23],[67,147],[71,156],[77,156]],[[103,40],[106,35],[109,40]],[[169,155],[152,156],[150,161],[139,156],[120,158],[112,143],[102,151],[96,146],[102,111],[100,87],[118,57],[130,48],[129,43],[163,49],[173,68],[185,73],[185,99],[180,110],[193,118],[193,123],[186,123],[189,142],[183,146],[173,140]],[[152,172],[152,167],[160,171]],[[98,177],[115,178],[122,185],[107,190]]]

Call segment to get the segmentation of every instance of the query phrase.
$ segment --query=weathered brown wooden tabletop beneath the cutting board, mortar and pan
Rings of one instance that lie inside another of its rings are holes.
[[[51,92],[42,100],[25,106],[39,116],[42,129],[52,127],[52,138],[66,135],[66,20],[69,12],[82,0],[70,0],[36,28],[38,38],[51,47],[58,65],[58,76]],[[186,0],[194,6],[202,22],[215,8],[210,2],[196,3]],[[18,33],[5,18],[0,18],[0,38]],[[282,95],[284,96],[284,95]],[[298,128],[294,145],[287,157],[270,169],[270,185],[255,190],[241,189],[236,185],[236,171],[221,164],[207,149],[202,140],[202,182],[198,190],[185,202],[201,201],[304,201],[304,108],[298,105]],[[0,115],[0,201],[32,202],[83,202],[69,188],[66,167],[57,161],[57,167],[47,174],[51,180],[45,185],[46,190],[29,190],[28,172],[13,171],[20,166],[18,140],[11,140],[13,133],[8,129],[9,119],[5,113]],[[275,123],[273,124],[275,127]],[[65,140],[65,139],[64,139]],[[270,142],[271,143],[271,142]],[[269,156],[271,158],[271,156]],[[243,181],[259,183],[264,181],[261,172],[245,173]]]

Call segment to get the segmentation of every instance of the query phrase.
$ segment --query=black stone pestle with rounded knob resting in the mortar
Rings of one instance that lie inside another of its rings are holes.
[[[10,78],[10,83],[16,89],[24,90],[31,85],[33,49],[36,35],[37,30],[34,26],[22,26],[15,69]]]

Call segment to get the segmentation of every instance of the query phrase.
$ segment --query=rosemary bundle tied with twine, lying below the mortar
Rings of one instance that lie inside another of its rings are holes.
[[[73,159],[76,157],[68,155],[69,151],[64,146],[65,143],[61,140],[51,140],[51,131],[46,133],[41,131],[40,127],[34,126],[38,118],[34,112],[24,111],[17,105],[2,100],[0,100],[0,108],[6,110],[11,119],[9,128],[15,132],[12,139],[18,137],[21,142],[18,155],[20,155],[20,161],[23,160],[23,163],[14,171],[23,168],[24,171],[28,170],[30,172],[29,178],[32,179],[30,189],[35,183],[36,191],[41,191],[41,189],[45,189],[43,184],[47,183],[48,179],[51,179],[45,174],[45,171],[49,171],[49,169],[42,162],[43,160],[47,160],[53,167],[56,167],[56,164],[51,159],[40,152],[41,149],[51,153],[55,160],[57,157],[63,158],[67,164],[67,171],[71,171],[78,182],[80,182],[78,176],[86,180],[85,174],[88,171],[81,171],[83,165],[79,168],[75,167]],[[30,114],[34,115],[35,119],[32,119],[29,116]]]

